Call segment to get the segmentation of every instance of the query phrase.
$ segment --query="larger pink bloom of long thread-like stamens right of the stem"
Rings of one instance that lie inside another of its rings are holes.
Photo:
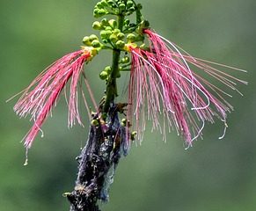
[[[132,66],[128,85],[128,117],[131,119],[131,116],[135,116],[133,125],[138,132],[138,139],[143,139],[146,120],[152,121],[152,130],[158,129],[163,133],[164,140],[166,129],[170,132],[175,128],[178,135],[183,136],[187,147],[201,137],[206,121],[214,123],[214,117],[223,120],[226,129],[227,113],[233,107],[223,95],[230,94],[211,84],[201,73],[238,91],[236,84],[246,82],[219,69],[245,70],[188,55],[150,29],[143,33],[149,40],[150,49],[132,45],[129,49]],[[160,115],[164,116],[163,122]]]

